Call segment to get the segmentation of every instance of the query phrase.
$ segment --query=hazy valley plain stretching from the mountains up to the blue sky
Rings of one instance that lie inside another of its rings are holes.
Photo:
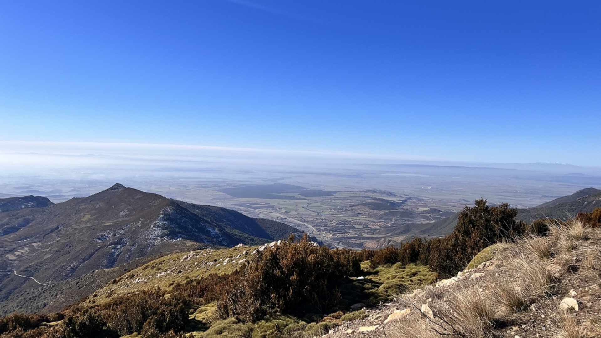
[[[5,151],[9,160],[0,164],[0,197],[40,195],[56,203],[119,182],[278,220],[329,246],[354,249],[378,240],[382,229],[441,220],[475,199],[529,208],[601,186],[595,167],[560,163],[457,163],[168,145],[4,144],[14,149]],[[23,168],[10,158],[26,158],[31,165]]]

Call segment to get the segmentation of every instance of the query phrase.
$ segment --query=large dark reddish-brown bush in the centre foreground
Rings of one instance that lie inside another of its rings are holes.
[[[225,280],[219,316],[248,322],[273,313],[325,313],[340,301],[335,282],[358,276],[360,263],[355,252],[314,246],[307,236],[267,248]]]

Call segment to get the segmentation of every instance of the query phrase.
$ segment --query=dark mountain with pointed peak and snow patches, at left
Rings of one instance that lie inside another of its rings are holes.
[[[69,281],[97,278],[102,275],[98,271],[118,265],[135,267],[136,262],[171,252],[257,245],[302,235],[284,223],[121,184],[59,204],[40,196],[0,199],[0,208],[0,315],[37,312],[50,303],[41,301],[39,289],[46,296],[59,296],[59,291],[69,290]],[[28,302],[26,294],[37,296]]]

